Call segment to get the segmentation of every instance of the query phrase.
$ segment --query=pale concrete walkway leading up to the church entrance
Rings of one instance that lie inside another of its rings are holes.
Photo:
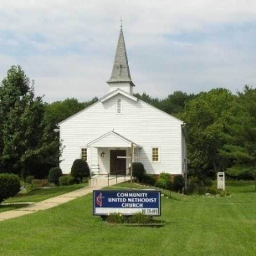
[[[129,179],[124,178],[124,177],[118,177],[117,178],[117,183],[121,183],[124,181],[127,181]],[[116,184],[116,179],[111,179],[109,180],[109,186],[112,186]],[[58,206],[60,204],[64,204],[67,203],[73,199],[76,199],[80,196],[85,196],[87,194],[92,193],[92,191],[94,189],[101,189],[103,187],[107,187],[108,186],[108,180],[103,180],[103,179],[97,179],[95,178],[93,181],[93,184],[91,182],[90,186],[84,187],[84,188],[80,188],[77,190],[74,190],[72,192],[68,192],[66,194],[62,194],[60,196],[55,196],[52,198],[48,198],[44,201],[40,201],[40,202],[36,202],[33,204],[30,204],[26,207],[22,207],[16,210],[10,210],[10,211],[6,211],[6,212],[0,212],[0,221],[2,220],[9,220],[12,218],[16,218],[16,217],[20,217],[23,215],[27,215],[27,214],[31,214],[33,212],[38,212],[38,211],[42,211],[42,210],[47,210],[50,209],[52,207]]]

